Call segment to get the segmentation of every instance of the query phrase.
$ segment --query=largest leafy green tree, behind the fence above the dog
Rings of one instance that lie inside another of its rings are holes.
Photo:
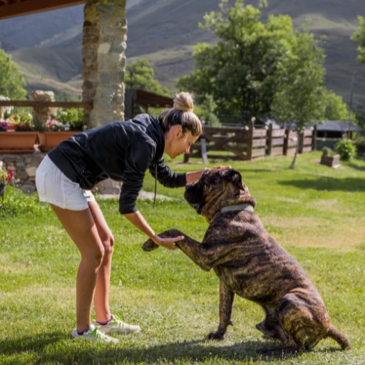
[[[199,104],[212,96],[220,114],[267,115],[295,34],[289,16],[270,15],[263,24],[264,6],[266,1],[256,8],[222,0],[221,12],[205,15],[200,27],[214,31],[218,41],[195,46],[193,72],[180,78],[178,88],[194,92]]]

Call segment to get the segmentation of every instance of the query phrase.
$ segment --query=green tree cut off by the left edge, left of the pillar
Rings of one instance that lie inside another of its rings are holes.
[[[26,96],[25,82],[11,56],[0,49],[0,95],[11,99],[22,99]]]

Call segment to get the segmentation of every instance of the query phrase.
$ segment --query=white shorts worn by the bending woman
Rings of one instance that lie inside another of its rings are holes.
[[[68,210],[88,209],[88,202],[95,202],[90,190],[81,189],[46,155],[36,170],[36,187],[41,202],[49,202]]]

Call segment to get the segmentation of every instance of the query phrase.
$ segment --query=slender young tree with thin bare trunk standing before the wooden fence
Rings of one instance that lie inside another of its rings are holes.
[[[297,32],[293,52],[283,68],[279,91],[274,95],[272,114],[279,120],[293,120],[300,135],[307,125],[324,119],[324,51],[307,29]],[[300,138],[290,168],[294,168]]]

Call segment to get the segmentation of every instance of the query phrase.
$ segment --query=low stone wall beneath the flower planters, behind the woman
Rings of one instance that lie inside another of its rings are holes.
[[[36,191],[36,169],[40,165],[46,153],[24,153],[24,154],[0,154],[0,168],[13,170],[16,186],[26,194]],[[113,180],[104,180],[93,192],[101,194],[119,194],[121,183]]]

